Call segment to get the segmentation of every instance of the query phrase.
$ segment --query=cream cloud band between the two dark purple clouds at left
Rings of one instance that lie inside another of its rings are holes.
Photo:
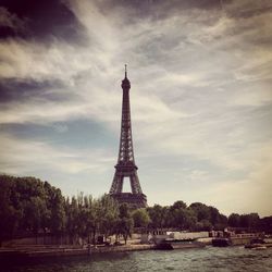
[[[90,63],[83,61],[84,58],[94,57],[87,50],[77,54],[76,48],[57,40],[47,46],[23,39],[7,39],[1,41],[0,50],[0,77],[3,79],[58,79],[72,84],[74,76],[91,67]],[[69,62],[67,55],[71,55]]]

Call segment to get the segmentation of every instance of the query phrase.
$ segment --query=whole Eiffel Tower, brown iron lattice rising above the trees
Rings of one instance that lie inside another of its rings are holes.
[[[110,196],[120,203],[128,203],[131,207],[147,207],[147,197],[143,194],[139,178],[137,175],[138,168],[135,164],[133,151],[133,134],[131,122],[129,107],[129,89],[131,82],[127,78],[125,65],[125,78],[121,85],[123,89],[122,102],[122,121],[118,164],[115,165],[115,174],[110,189]],[[128,177],[131,182],[132,193],[123,193],[124,177]]]

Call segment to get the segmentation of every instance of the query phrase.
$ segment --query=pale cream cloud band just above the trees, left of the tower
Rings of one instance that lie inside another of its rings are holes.
[[[102,171],[104,163],[113,158],[107,150],[75,150],[57,148],[45,141],[18,139],[1,134],[1,172],[18,175],[30,174],[37,169],[65,174],[79,174],[84,171]]]

